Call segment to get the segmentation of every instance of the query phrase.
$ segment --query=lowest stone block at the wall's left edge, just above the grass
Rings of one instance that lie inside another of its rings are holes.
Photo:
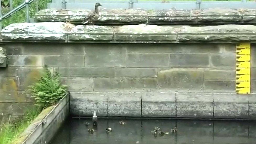
[[[0,103],[1,115],[24,115],[25,111],[31,109],[34,103]]]

